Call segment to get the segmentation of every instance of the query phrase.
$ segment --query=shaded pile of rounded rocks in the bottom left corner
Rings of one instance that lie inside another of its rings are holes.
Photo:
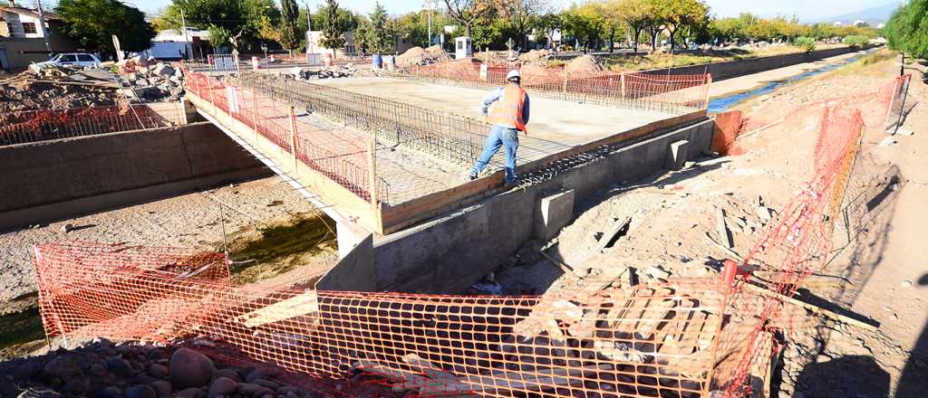
[[[0,363],[0,397],[315,397],[273,372],[225,367],[189,348],[97,341]]]

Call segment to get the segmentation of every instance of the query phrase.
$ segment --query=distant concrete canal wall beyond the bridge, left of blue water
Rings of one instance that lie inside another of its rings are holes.
[[[796,64],[818,61],[830,56],[853,53],[857,48],[838,47],[826,50],[816,50],[809,53],[784,54],[782,56],[760,56],[756,58],[739,59],[737,61],[715,62],[712,64],[690,65],[687,67],[670,68],[671,75],[699,75],[705,72],[712,74],[713,81],[724,81],[765,70],[784,68]],[[667,74],[667,69],[645,70],[641,73]]]

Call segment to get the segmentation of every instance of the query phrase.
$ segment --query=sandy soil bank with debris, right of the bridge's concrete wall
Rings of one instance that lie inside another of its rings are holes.
[[[925,217],[928,171],[928,86],[912,80],[912,108],[896,143],[885,138],[878,95],[898,73],[895,62],[852,65],[780,89],[739,106],[755,123],[784,118],[740,140],[746,153],[703,158],[678,172],[616,184],[580,204],[574,223],[548,249],[561,271],[530,243],[496,271],[507,293],[585,289],[603,279],[633,283],[715,276],[719,260],[745,254],[768,219],[788,204],[812,173],[818,133],[813,104],[853,96],[869,128],[836,223],[833,259],[810,277],[799,297],[875,330],[836,322],[798,306],[784,313],[793,329],[782,336],[772,395],[780,397],[922,396],[928,389],[928,249]],[[883,108],[884,109],[884,108]],[[733,243],[719,247],[718,214]],[[615,223],[630,219],[602,253],[596,247]],[[715,242],[713,242],[715,241]],[[633,269],[636,277],[621,270]],[[591,276],[595,278],[590,278]],[[608,283],[607,283],[608,284]]]

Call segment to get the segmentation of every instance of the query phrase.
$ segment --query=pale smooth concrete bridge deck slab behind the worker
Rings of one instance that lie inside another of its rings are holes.
[[[414,106],[481,118],[480,105],[487,89],[456,87],[392,78],[329,79],[317,81],[353,93],[362,93]],[[520,136],[520,163],[556,154],[648,123],[677,115],[612,106],[579,104],[532,96],[528,136]],[[501,156],[500,156],[501,157]]]

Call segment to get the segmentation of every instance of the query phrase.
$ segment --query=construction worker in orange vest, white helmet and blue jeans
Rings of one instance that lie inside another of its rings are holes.
[[[470,168],[468,177],[474,180],[490,163],[490,159],[500,147],[506,147],[506,185],[516,182],[516,150],[519,149],[519,131],[525,132],[528,123],[529,103],[528,94],[522,90],[522,75],[518,70],[510,70],[506,75],[507,84],[489,93],[483,98],[480,112],[487,121],[493,125],[490,135],[486,137],[483,145],[483,154],[477,158],[477,163]],[[492,107],[491,107],[492,106]]]

